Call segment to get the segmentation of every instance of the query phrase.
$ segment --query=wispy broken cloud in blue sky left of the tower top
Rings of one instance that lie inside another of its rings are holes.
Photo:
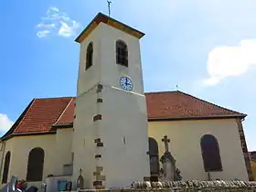
[[[49,7],[46,16],[37,24],[37,37],[47,37],[54,33],[61,37],[72,37],[80,29],[80,23],[71,19],[65,12],[57,7]]]

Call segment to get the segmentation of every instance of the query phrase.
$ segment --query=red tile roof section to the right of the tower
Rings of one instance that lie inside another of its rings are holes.
[[[146,93],[148,119],[246,116],[181,91]]]

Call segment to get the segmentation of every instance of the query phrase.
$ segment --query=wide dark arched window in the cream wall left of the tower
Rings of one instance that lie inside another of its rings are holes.
[[[27,181],[41,181],[43,178],[45,152],[42,148],[33,148],[28,155]]]

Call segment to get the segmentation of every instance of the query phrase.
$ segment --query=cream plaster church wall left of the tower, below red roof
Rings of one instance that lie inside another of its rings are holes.
[[[63,165],[70,163],[70,142],[72,129],[61,130],[57,134],[36,136],[16,136],[5,141],[5,154],[11,152],[8,180],[11,176],[19,179],[27,177],[27,160],[31,149],[41,147],[45,152],[43,178],[49,174],[61,175]],[[59,138],[57,140],[57,138]],[[4,163],[5,164],[5,156]],[[3,168],[1,173],[1,181]],[[41,182],[29,182],[29,185],[41,187]]]

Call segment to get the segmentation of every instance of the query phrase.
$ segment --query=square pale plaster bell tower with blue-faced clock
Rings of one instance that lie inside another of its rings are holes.
[[[150,176],[140,38],[99,13],[80,43],[73,133],[73,177],[84,187],[128,187]]]

